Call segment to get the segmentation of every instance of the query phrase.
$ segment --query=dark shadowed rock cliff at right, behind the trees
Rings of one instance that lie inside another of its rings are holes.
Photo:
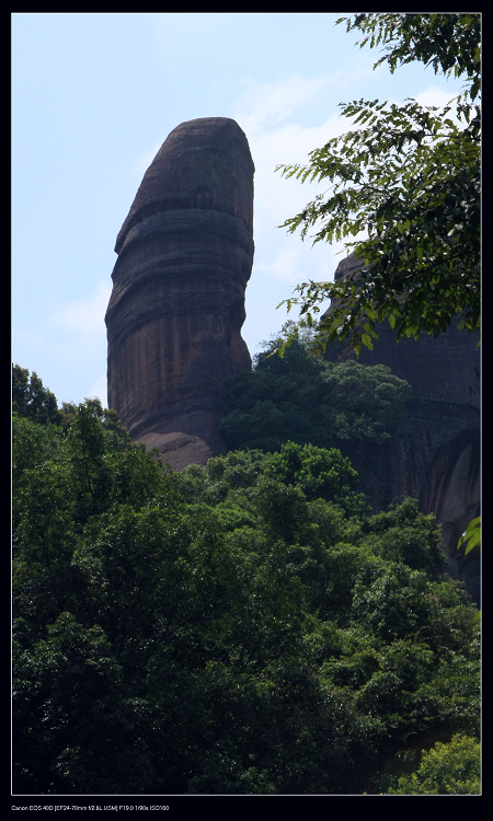
[[[335,279],[362,267],[351,254],[340,263]],[[330,311],[330,309],[329,309]],[[386,365],[413,389],[408,413],[386,448],[365,454],[365,487],[376,509],[414,496],[420,509],[434,513],[442,523],[448,569],[462,578],[479,597],[478,562],[465,562],[457,542],[467,524],[479,516],[480,505],[480,349],[478,336],[450,325],[437,338],[421,334],[402,338],[388,323],[377,327],[372,350],[362,348],[364,365]],[[328,347],[332,361],[355,358],[354,350],[339,343]]]

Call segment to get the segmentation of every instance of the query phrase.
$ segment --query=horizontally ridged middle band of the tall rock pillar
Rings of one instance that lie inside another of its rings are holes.
[[[163,311],[207,313],[211,296],[215,310],[228,315],[231,303],[241,303],[238,316],[233,312],[240,331],[252,258],[251,235],[228,215],[195,209],[145,220],[130,231],[113,270],[108,344],[117,345]]]

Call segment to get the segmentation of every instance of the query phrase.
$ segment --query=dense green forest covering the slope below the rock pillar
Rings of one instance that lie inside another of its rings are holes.
[[[15,794],[480,791],[475,608],[433,517],[370,512],[335,447],[385,441],[408,388],[267,354],[232,450],[180,474],[14,367]]]

